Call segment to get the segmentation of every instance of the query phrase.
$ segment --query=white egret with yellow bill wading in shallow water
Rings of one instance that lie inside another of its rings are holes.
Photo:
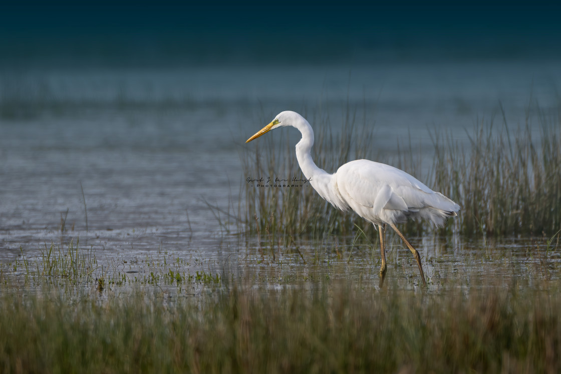
[[[333,206],[346,211],[352,209],[362,218],[378,226],[380,233],[381,266],[384,279],[386,271],[384,232],[388,224],[403,239],[417,260],[421,278],[425,282],[419,252],[411,246],[396,227],[407,218],[427,219],[441,226],[444,219],[456,216],[459,205],[442,193],[434,192],[403,170],[369,160],[355,160],[344,164],[337,173],[329,174],[316,166],[310,155],[314,145],[314,131],[310,123],[295,112],[282,112],[273,122],[263,127],[247,142],[278,127],[296,127],[302,139],[296,144],[296,158],[302,173],[321,197]]]

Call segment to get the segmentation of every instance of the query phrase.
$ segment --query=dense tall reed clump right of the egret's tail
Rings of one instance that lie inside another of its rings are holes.
[[[551,236],[561,228],[561,120],[536,110],[540,123],[527,116],[513,133],[506,123],[493,132],[493,121],[481,122],[467,150],[436,136],[434,186],[462,206],[458,228],[450,228],[486,236]]]

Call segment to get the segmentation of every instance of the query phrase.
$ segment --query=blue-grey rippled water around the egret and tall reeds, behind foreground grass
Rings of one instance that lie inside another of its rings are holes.
[[[357,123],[375,126],[373,147],[380,153],[396,155],[398,140],[411,137],[430,158],[430,129],[446,128],[466,142],[465,128],[482,118],[502,118],[499,100],[512,126],[523,124],[531,98],[546,112],[553,110],[561,71],[554,63],[474,62],[4,71],[1,78],[4,264],[20,258],[20,247],[33,258],[45,243],[65,246],[79,238],[100,261],[120,263],[123,271],[122,261],[172,253],[209,261],[213,274],[235,259],[233,268],[247,267],[282,284],[316,272],[377,281],[379,257],[376,250],[373,257],[357,249],[323,249],[314,267],[318,243],[302,244],[302,256],[278,248],[273,260],[274,251],[259,255],[257,238],[246,243],[232,235],[237,225],[227,214],[238,209],[246,178],[238,154],[276,113],[306,113],[312,126],[314,116],[328,114],[337,129],[349,103]],[[291,134],[294,141],[297,137]],[[541,239],[509,239],[493,250],[461,239],[444,245],[427,238],[416,242],[433,285],[449,277],[476,284],[474,274],[504,284],[530,284],[526,275],[536,271],[558,277],[558,253],[544,257]],[[388,281],[418,282],[410,254],[394,254],[389,267],[398,266],[388,271]],[[321,269],[330,263],[338,269],[333,274]],[[186,269],[193,273],[194,268]]]

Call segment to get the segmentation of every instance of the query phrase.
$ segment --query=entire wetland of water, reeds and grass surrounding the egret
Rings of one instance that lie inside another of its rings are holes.
[[[460,65],[2,76],[0,371],[558,372],[558,70]],[[373,227],[309,184],[250,183],[304,179],[297,133],[243,145],[284,109],[328,172],[461,205],[403,225],[427,287],[390,234],[381,285]]]

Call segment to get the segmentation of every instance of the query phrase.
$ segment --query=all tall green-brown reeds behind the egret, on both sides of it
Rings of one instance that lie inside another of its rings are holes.
[[[500,126],[496,126],[494,118],[478,122],[472,130],[466,130],[467,144],[448,131],[429,130],[434,156],[427,168],[411,139],[408,147],[396,144],[398,155],[388,158],[374,154],[373,123],[357,124],[356,118],[347,114],[340,130],[332,131],[329,116],[310,117],[316,138],[312,158],[329,172],[348,161],[367,158],[416,176],[461,206],[459,216],[438,229],[439,234],[548,237],[561,229],[561,108],[546,112],[537,104],[528,104],[527,110],[523,126],[514,129],[504,117]],[[531,116],[531,110],[537,115]],[[537,123],[532,123],[532,118]],[[304,178],[294,144],[288,138],[262,139],[255,147],[243,149],[246,178]],[[247,233],[260,232],[273,238],[279,235],[284,240],[302,235],[346,236],[358,225],[373,235],[365,220],[339,212],[309,184],[280,188],[246,183],[244,192],[246,207],[240,211],[240,219],[245,225],[240,230]],[[410,221],[403,230],[408,236],[420,236],[434,227]]]

